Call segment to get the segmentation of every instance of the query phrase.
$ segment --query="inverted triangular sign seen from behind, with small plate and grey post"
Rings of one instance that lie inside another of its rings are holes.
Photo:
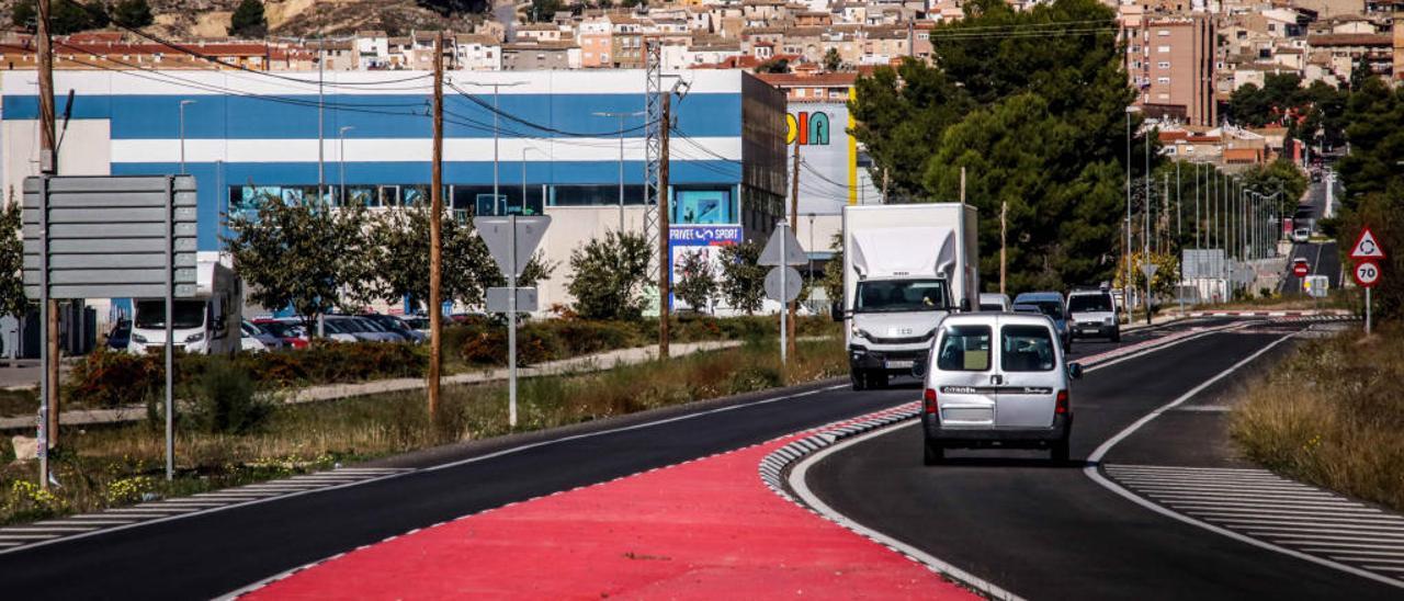
[[[507,288],[487,289],[487,310],[507,313],[507,425],[517,427],[517,312],[536,310],[536,289],[517,288],[517,278],[531,258],[522,261],[521,257],[531,257],[546,236],[550,218],[545,215],[505,218],[476,218],[473,226],[477,235],[487,244],[497,267],[507,277]],[[525,293],[524,293],[525,292]],[[525,302],[521,302],[525,300]]]

